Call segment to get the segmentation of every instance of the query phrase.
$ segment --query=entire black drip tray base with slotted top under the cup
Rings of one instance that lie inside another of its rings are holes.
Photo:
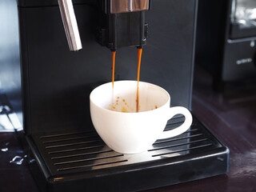
[[[166,130],[183,121],[174,118]],[[141,154],[115,152],[95,131],[37,134],[27,140],[32,172],[41,173],[48,191],[146,190],[228,171],[229,150],[197,118],[190,130],[158,140]]]

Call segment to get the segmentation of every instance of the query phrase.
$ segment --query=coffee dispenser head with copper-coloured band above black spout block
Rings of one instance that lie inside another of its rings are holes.
[[[145,46],[145,10],[150,10],[150,4],[151,0],[102,0],[97,41],[112,51]]]

